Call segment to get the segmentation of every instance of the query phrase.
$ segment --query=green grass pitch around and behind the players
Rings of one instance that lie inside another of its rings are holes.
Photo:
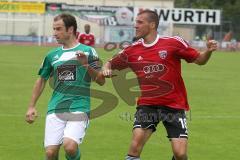
[[[44,121],[51,88],[38,101],[39,117],[29,125],[25,112],[38,68],[49,47],[0,45],[0,160],[43,160]],[[98,50],[103,61],[113,54]],[[240,53],[214,53],[205,66],[183,63],[188,90],[190,160],[238,160],[240,142]],[[98,90],[117,96],[111,80]],[[93,108],[100,103],[93,99]],[[119,98],[108,114],[91,120],[82,160],[121,160],[128,150],[134,106]],[[191,119],[190,119],[191,118]],[[61,160],[64,153],[61,151]],[[171,147],[162,125],[142,153],[143,160],[170,160]]]

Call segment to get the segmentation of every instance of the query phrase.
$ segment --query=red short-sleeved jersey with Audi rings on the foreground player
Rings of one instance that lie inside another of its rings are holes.
[[[152,44],[138,40],[109,62],[113,70],[129,67],[135,72],[141,90],[138,105],[189,110],[181,59],[190,63],[198,56],[199,52],[182,38],[158,35]]]

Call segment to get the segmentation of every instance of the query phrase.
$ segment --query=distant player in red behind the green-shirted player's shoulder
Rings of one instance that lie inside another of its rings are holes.
[[[90,33],[91,27],[89,24],[86,24],[84,26],[84,31],[85,33],[79,33],[77,40],[78,42],[85,44],[87,46],[92,46],[94,47],[95,45],[95,37],[92,33]]]

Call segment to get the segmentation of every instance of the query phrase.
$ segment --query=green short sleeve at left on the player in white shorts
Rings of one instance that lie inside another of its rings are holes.
[[[38,75],[40,75],[45,80],[48,80],[52,73],[53,67],[51,65],[51,61],[49,60],[49,57],[45,57],[41,68],[38,71]]]

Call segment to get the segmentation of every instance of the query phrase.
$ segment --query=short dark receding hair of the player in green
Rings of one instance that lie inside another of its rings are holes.
[[[77,33],[77,21],[76,18],[74,16],[72,16],[71,14],[68,13],[62,13],[57,15],[56,17],[54,17],[54,21],[58,21],[62,19],[63,23],[66,27],[66,29],[68,30],[69,27],[73,27],[73,33],[76,35]]]

